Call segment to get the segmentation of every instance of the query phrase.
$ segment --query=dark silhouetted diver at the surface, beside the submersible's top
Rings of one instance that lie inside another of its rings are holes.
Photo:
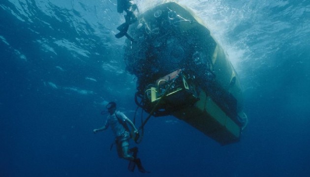
[[[133,24],[138,19],[138,6],[132,0],[117,0],[117,12],[123,13],[123,11],[126,12],[126,15],[124,15],[125,23],[123,23],[117,28],[120,32],[117,33],[115,37],[121,38],[123,36],[126,36],[128,39],[133,41],[133,38],[127,34],[127,30],[129,28],[129,25]]]

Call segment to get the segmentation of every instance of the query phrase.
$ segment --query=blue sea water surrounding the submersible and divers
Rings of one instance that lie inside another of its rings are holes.
[[[136,2],[141,12],[160,3]],[[179,2],[241,79],[249,123],[239,143],[220,146],[177,118],[151,118],[138,146],[152,173],[128,172],[110,151],[112,131],[92,132],[106,102],[129,118],[136,108],[124,38],[114,37],[124,22],[116,0],[1,0],[0,177],[308,177],[310,1]]]

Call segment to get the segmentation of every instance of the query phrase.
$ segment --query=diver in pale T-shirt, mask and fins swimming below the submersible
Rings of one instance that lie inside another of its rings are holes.
[[[134,148],[129,149],[129,138],[130,138],[129,132],[130,131],[126,123],[129,123],[129,125],[134,130],[134,135],[132,135],[131,137],[135,141],[139,138],[138,129],[134,126],[132,121],[129,118],[127,118],[122,112],[116,111],[115,102],[109,102],[106,108],[108,109],[107,112],[101,112],[101,114],[105,114],[105,113],[109,114],[106,119],[105,124],[101,128],[93,129],[93,133],[104,131],[109,126],[111,126],[112,131],[115,135],[115,143],[116,143],[119,157],[129,160],[128,170],[133,172],[135,165],[137,165],[138,170],[140,172],[149,173],[143,168],[141,164],[141,160],[137,158],[138,148],[134,147]]]

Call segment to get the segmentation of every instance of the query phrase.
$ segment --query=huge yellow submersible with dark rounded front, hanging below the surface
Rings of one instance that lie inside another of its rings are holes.
[[[185,7],[168,2],[140,15],[128,34],[135,41],[126,41],[124,59],[127,70],[138,78],[138,93],[147,102],[147,112],[162,98],[158,109],[186,121],[221,145],[239,141],[243,126],[238,120],[243,115],[240,81],[200,19]],[[184,86],[179,84],[167,95],[160,94],[173,80],[169,74],[180,69]],[[191,89],[186,89],[187,81]],[[182,100],[180,95],[186,95],[184,106],[171,101]]]

